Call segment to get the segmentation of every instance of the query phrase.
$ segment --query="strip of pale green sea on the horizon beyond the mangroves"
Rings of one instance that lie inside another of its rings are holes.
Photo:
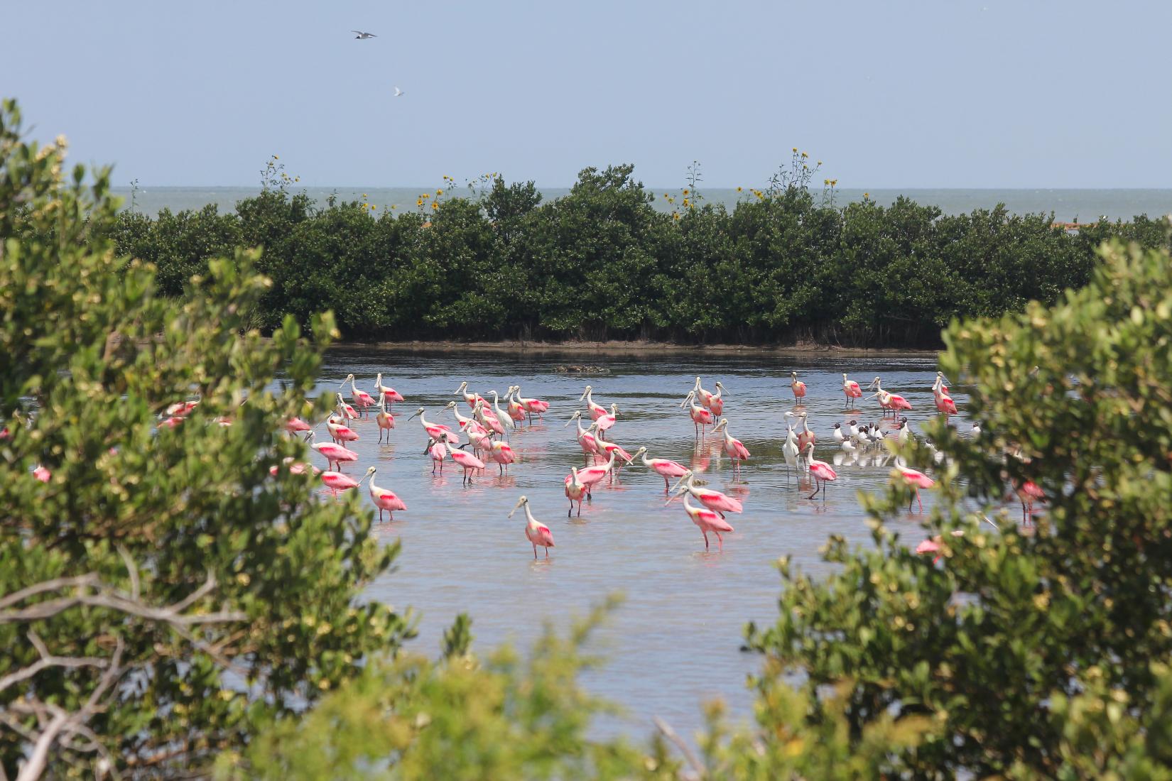
[[[130,207],[130,189],[114,187],[115,194],[127,199]],[[655,193],[655,204],[660,208],[670,206],[663,193],[672,193],[676,201],[681,200],[680,189],[648,187]],[[257,194],[255,187],[145,187],[139,189],[135,197],[135,208],[146,214],[156,214],[163,208],[177,212],[185,208],[203,208],[214,204],[222,212],[233,211],[241,198]],[[379,211],[395,206],[396,212],[416,208],[415,201],[421,193],[435,194],[435,189],[427,187],[304,187],[292,192],[305,192],[318,204],[325,204],[332,194],[339,200],[361,200],[375,204]],[[570,192],[568,187],[544,187],[540,192],[545,201],[560,198]],[[841,189],[836,191],[834,203],[839,206],[854,200],[861,200],[867,192],[872,200],[888,205],[899,196],[906,196],[924,205],[935,205],[947,214],[962,214],[975,208],[992,208],[1004,204],[1014,213],[1054,213],[1054,219],[1063,222],[1090,222],[1106,217],[1108,219],[1130,219],[1137,214],[1156,218],[1172,213],[1172,189],[1161,190],[960,190],[960,189],[874,189],[870,191]],[[466,196],[468,190],[455,189],[451,194]],[[732,189],[702,189],[701,196],[707,203],[724,204],[731,208],[737,200],[748,200],[752,196]]]

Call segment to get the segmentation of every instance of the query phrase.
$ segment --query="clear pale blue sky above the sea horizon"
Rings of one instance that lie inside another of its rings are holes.
[[[0,95],[115,183],[1172,186],[1172,2],[19,2]],[[352,28],[379,37],[356,41]],[[391,97],[394,87],[406,90]]]

